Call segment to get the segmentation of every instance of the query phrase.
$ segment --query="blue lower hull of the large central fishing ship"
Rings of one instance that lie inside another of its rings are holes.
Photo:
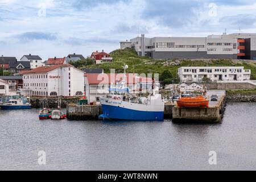
[[[130,120],[130,121],[163,121],[163,111],[139,111],[123,107],[102,105],[100,119]]]

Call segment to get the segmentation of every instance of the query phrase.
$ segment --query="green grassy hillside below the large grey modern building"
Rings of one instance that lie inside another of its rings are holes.
[[[81,68],[103,68],[105,73],[110,69],[115,69],[116,73],[122,73],[122,65],[127,64],[129,73],[159,73],[168,70],[171,72],[171,78],[177,77],[177,68],[195,67],[195,66],[243,66],[245,69],[251,69],[251,79],[256,80],[256,61],[241,61],[227,59],[212,60],[153,60],[150,57],[140,57],[133,49],[117,49],[110,53],[113,57],[113,63],[93,64],[82,66]]]

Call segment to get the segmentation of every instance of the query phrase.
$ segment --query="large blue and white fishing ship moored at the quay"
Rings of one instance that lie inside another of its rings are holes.
[[[128,66],[123,67],[127,69]],[[116,88],[110,88],[107,97],[101,97],[100,119],[122,121],[163,121],[164,100],[161,94],[152,93],[148,97],[134,97],[126,86],[126,74]]]

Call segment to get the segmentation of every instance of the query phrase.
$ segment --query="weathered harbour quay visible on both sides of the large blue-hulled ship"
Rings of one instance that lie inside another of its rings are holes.
[[[208,90],[207,97],[213,94],[218,97],[218,101],[210,101],[209,107],[178,107],[176,102],[167,102],[164,104],[164,119],[172,119],[175,123],[221,122],[226,106],[226,93],[225,90]],[[101,105],[67,105],[67,118],[70,120],[97,120],[100,114]]]

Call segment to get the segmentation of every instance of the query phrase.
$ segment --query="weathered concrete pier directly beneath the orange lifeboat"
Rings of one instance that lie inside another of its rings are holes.
[[[174,123],[218,123],[221,122],[226,106],[225,95],[219,101],[210,103],[209,107],[173,107],[172,122]]]

